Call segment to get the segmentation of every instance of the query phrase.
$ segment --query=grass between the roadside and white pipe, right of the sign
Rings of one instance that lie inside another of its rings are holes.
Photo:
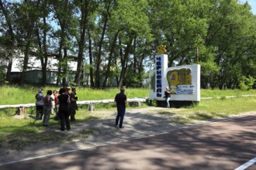
[[[207,121],[235,116],[248,111],[255,111],[256,97],[235,97],[213,100],[201,100],[199,105],[175,111],[174,121],[178,124],[193,121]],[[173,114],[170,111],[169,114]]]

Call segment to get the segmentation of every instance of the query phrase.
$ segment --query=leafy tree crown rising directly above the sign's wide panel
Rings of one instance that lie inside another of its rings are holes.
[[[196,48],[202,46],[206,36],[205,5],[206,1],[200,0],[150,1],[154,49],[167,46],[168,66],[196,63]]]

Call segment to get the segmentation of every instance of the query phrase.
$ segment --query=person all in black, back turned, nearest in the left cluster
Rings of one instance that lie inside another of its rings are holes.
[[[59,91],[60,95],[57,97],[59,106],[59,116],[61,119],[61,131],[65,131],[65,125],[67,130],[71,130],[71,125],[69,121],[70,115],[70,97],[65,93],[64,88]]]

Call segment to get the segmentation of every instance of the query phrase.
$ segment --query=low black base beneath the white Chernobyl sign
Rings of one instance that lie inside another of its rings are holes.
[[[171,100],[170,106],[174,108],[188,107],[192,105],[198,105],[199,101],[188,101],[188,100]],[[157,100],[157,107],[167,107],[165,100]]]

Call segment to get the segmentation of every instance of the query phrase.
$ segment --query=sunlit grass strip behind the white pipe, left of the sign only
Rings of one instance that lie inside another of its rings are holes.
[[[58,87],[43,87],[43,93],[47,90],[59,90]],[[7,100],[0,100],[0,105],[5,104],[33,104],[35,103],[35,96],[39,87],[11,87],[2,86],[2,98]],[[77,88],[78,100],[107,100],[113,99],[116,93],[119,93],[118,88],[108,88],[106,90],[93,90],[90,88]],[[148,97],[148,89],[144,88],[127,88],[126,96],[128,98]]]

